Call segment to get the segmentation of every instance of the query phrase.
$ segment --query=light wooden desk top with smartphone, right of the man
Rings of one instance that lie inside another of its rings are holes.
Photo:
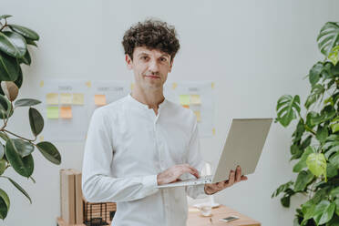
[[[221,218],[228,217],[230,215],[239,217],[236,221],[231,222],[222,222],[219,221]],[[218,208],[212,209],[211,217],[203,217],[200,215],[200,211],[195,207],[189,208],[189,219],[187,221],[187,226],[261,226],[262,224],[259,221],[254,221],[251,218],[231,210],[230,208],[221,205]]]

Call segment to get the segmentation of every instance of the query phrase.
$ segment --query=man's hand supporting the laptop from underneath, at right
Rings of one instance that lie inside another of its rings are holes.
[[[214,194],[220,190],[231,187],[233,184],[242,180],[247,180],[247,177],[241,175],[241,167],[238,166],[235,171],[230,171],[229,180],[223,180],[214,184],[205,184],[205,193],[208,195]]]

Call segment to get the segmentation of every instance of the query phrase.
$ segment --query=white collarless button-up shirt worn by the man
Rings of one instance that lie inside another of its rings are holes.
[[[201,170],[197,119],[187,108],[164,100],[158,115],[128,95],[98,108],[91,118],[82,170],[90,202],[117,202],[114,226],[186,225],[191,198],[204,185],[157,189],[157,175],[178,164]],[[188,173],[181,179],[190,178]]]

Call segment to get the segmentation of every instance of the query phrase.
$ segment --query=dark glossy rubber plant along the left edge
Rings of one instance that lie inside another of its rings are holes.
[[[20,65],[31,64],[27,45],[36,46],[39,36],[35,31],[25,26],[7,24],[7,18],[10,16],[0,15],[0,118],[4,121],[4,125],[0,128],[0,139],[4,140],[0,143],[0,179],[10,181],[32,203],[26,190],[15,180],[4,175],[5,170],[12,167],[21,176],[35,182],[32,178],[34,170],[32,152],[34,149],[37,148],[46,159],[55,164],[61,163],[61,156],[52,143],[47,141],[35,143],[36,136],[44,128],[44,118],[32,106],[41,102],[31,98],[22,98],[15,101],[23,83]],[[15,101],[14,105],[13,101]],[[15,108],[21,107],[29,107],[28,118],[34,139],[23,138],[6,129]],[[9,207],[8,195],[5,190],[0,188],[0,219],[5,219]]]

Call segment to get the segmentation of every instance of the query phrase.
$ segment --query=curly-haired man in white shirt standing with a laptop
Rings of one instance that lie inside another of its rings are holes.
[[[88,128],[82,189],[91,202],[117,202],[115,226],[185,225],[187,196],[211,195],[241,180],[241,168],[216,184],[157,189],[193,175],[199,178],[197,119],[163,96],[180,48],[174,27],[147,20],[123,37],[135,87],[128,97],[98,108]],[[192,176],[191,176],[192,177]]]

